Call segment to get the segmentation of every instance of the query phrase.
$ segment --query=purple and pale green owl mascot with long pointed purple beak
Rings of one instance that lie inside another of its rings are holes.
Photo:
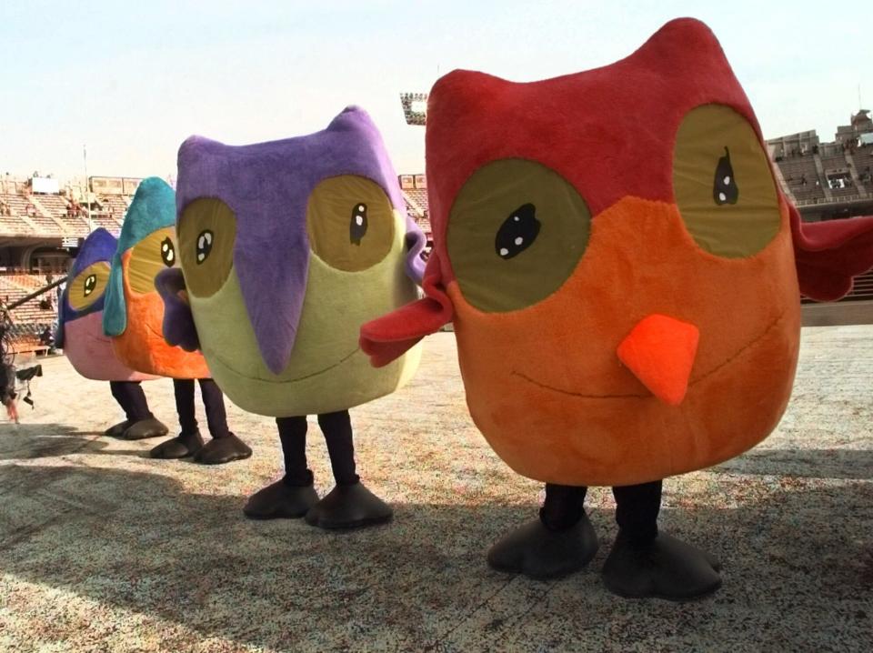
[[[376,370],[357,339],[366,320],[415,299],[424,237],[405,216],[376,126],[348,107],[309,136],[251,146],[191,137],[179,150],[177,204],[184,280],[159,278],[165,336],[199,346],[238,406],[277,418],[285,477],[251,497],[246,515],[306,515],[320,527],[390,518],[356,475],[347,409],[393,392],[417,367],[416,349]],[[306,467],[311,414],[336,479],[321,501]]]

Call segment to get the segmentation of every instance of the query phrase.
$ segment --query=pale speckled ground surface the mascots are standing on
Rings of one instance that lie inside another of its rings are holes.
[[[778,430],[667,480],[661,527],[724,566],[714,596],[683,604],[603,587],[607,488],[588,494],[601,544],[585,570],[537,582],[487,567],[541,487],[470,421],[450,333],[427,339],[408,387],[352,411],[358,471],[395,519],[351,533],[243,516],[281,474],[270,418],[228,402],[248,460],[152,460],[160,440],[100,435],[121,418],[108,384],[42,362],[35,409],[0,422],[2,651],[873,650],[873,327],[804,329]],[[144,386],[175,430],[170,381]],[[309,433],[323,494],[314,420]]]

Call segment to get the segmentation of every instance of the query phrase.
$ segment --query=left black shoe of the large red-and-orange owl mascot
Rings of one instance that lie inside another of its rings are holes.
[[[500,539],[488,551],[488,565],[497,571],[546,580],[585,567],[597,553],[597,534],[583,514],[571,527],[547,528],[539,519],[527,522]]]

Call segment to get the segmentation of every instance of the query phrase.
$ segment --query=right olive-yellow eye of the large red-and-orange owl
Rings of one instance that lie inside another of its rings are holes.
[[[717,256],[761,251],[780,226],[776,183],[758,135],[725,105],[688,112],[676,136],[673,189],[688,233]]]

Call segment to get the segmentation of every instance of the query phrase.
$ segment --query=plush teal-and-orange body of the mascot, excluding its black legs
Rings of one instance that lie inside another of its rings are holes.
[[[147,374],[208,378],[197,352],[169,345],[164,302],[156,288],[163,270],[178,269],[176,194],[163,179],[144,179],[125,215],[106,289],[104,332],[116,357]]]

